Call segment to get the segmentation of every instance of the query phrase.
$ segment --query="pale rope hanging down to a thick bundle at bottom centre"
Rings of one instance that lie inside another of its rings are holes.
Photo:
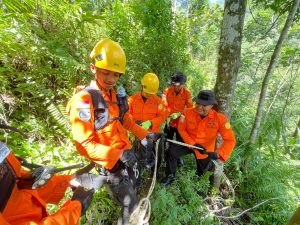
[[[153,193],[155,182],[156,182],[156,173],[157,173],[157,161],[158,161],[158,148],[159,148],[160,139],[157,140],[155,145],[155,166],[154,166],[154,173],[152,177],[151,186],[149,188],[148,194],[145,198],[142,198],[130,216],[129,224],[130,225],[148,225],[149,219],[151,216],[151,202],[150,196]]]

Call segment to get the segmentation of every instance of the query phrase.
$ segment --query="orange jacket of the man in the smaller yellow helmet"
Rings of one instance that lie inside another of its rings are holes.
[[[145,122],[150,120],[152,126],[149,128],[151,132],[160,132],[160,125],[164,122],[165,112],[162,100],[153,95],[144,102],[142,94],[137,93],[128,99],[129,113],[133,121],[140,120]]]

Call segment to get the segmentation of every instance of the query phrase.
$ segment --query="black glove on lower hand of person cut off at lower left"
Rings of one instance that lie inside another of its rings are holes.
[[[81,203],[81,216],[85,214],[86,210],[92,203],[94,192],[94,189],[85,191],[83,187],[78,187],[74,191],[72,200],[77,200]]]

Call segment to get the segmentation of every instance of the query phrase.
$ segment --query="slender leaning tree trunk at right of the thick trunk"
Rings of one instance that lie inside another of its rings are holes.
[[[259,97],[259,103],[258,103],[258,107],[257,107],[257,111],[256,111],[256,116],[255,116],[255,122],[253,124],[252,130],[251,130],[251,134],[250,134],[250,143],[254,144],[256,137],[257,137],[257,133],[260,127],[260,122],[261,122],[261,118],[262,118],[262,111],[263,111],[263,106],[266,100],[266,92],[267,92],[267,88],[268,88],[268,83],[270,80],[270,76],[273,73],[273,70],[275,68],[276,62],[278,60],[279,57],[279,53],[281,50],[281,46],[282,43],[284,41],[284,39],[287,37],[288,31],[292,25],[293,19],[295,17],[295,14],[297,12],[297,9],[299,7],[299,2],[300,0],[294,0],[293,2],[293,6],[291,8],[291,11],[286,19],[285,25],[281,31],[280,37],[278,39],[278,42],[276,44],[276,47],[274,49],[274,52],[272,54],[270,63],[269,63],[269,67],[267,69],[267,72],[265,74],[263,83],[262,83],[262,88],[261,88],[261,93],[260,93],[260,97]]]

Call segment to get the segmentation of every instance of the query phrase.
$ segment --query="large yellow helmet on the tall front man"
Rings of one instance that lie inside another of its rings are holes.
[[[117,42],[110,39],[102,39],[95,45],[90,54],[90,60],[98,68],[125,73],[125,53]]]

